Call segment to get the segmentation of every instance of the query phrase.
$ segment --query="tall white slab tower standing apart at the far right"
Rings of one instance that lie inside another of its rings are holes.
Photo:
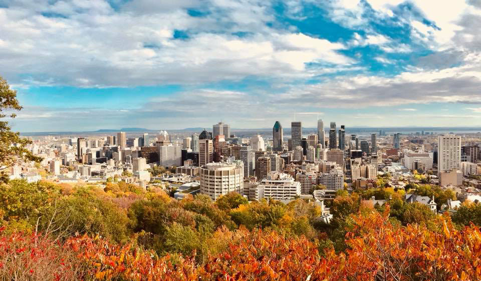
[[[461,168],[461,137],[443,134],[438,137],[437,145],[438,174]]]

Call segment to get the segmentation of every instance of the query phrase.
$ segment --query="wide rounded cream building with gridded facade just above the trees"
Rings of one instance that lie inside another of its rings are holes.
[[[210,140],[212,141],[212,140]],[[200,145],[203,141],[201,139]],[[212,200],[229,192],[242,194],[244,187],[242,162],[217,162],[201,165],[200,193],[207,194]]]

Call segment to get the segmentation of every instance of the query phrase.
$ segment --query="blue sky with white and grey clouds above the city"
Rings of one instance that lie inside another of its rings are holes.
[[[481,126],[481,0],[0,0],[13,129]]]

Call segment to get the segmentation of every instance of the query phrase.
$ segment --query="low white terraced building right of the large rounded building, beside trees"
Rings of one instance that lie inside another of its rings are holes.
[[[294,199],[301,195],[301,183],[288,173],[270,172],[259,184],[265,198],[276,200]]]

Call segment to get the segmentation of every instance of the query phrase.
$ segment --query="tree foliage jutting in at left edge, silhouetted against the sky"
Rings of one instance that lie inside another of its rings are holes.
[[[5,113],[5,110],[20,111],[22,106],[17,100],[17,91],[10,88],[7,81],[0,76],[0,120],[9,117],[15,118],[16,114]],[[32,143],[27,138],[20,137],[19,132],[13,132],[8,121],[0,121],[0,183],[8,182],[9,177],[6,170],[15,164],[19,159],[37,161],[41,157],[35,156],[26,148],[27,144]]]

